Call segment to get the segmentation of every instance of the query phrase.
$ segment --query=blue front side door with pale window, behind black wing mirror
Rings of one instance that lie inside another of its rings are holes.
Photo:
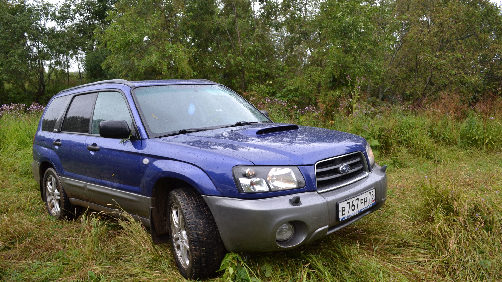
[[[98,205],[148,217],[145,197],[141,193],[141,140],[104,138],[99,135],[99,122],[118,119],[126,120],[129,127],[135,130],[122,93],[99,92],[91,134],[86,140],[86,146],[91,150],[85,154],[87,188],[93,202]],[[134,131],[132,133],[136,134]]]

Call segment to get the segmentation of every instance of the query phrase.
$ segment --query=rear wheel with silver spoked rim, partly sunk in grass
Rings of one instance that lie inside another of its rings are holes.
[[[81,208],[70,203],[55,169],[48,168],[45,171],[42,191],[45,208],[50,216],[71,220],[80,215]]]

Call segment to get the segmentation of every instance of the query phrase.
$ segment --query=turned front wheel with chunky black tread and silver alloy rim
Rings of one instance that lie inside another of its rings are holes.
[[[226,250],[204,199],[178,188],[169,194],[168,209],[169,237],[181,275],[198,279],[215,274]]]

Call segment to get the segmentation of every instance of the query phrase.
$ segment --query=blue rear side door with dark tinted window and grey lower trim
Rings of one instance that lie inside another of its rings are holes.
[[[86,190],[85,140],[89,135],[92,108],[97,93],[75,95],[63,119],[61,129],[54,135],[55,155],[51,161],[59,172],[69,198],[90,201]],[[59,166],[59,167],[58,167]]]

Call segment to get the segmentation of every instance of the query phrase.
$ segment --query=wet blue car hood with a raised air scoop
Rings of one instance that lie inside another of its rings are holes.
[[[161,139],[235,155],[255,165],[313,165],[330,157],[364,152],[366,146],[366,140],[354,134],[284,123],[219,128]]]

